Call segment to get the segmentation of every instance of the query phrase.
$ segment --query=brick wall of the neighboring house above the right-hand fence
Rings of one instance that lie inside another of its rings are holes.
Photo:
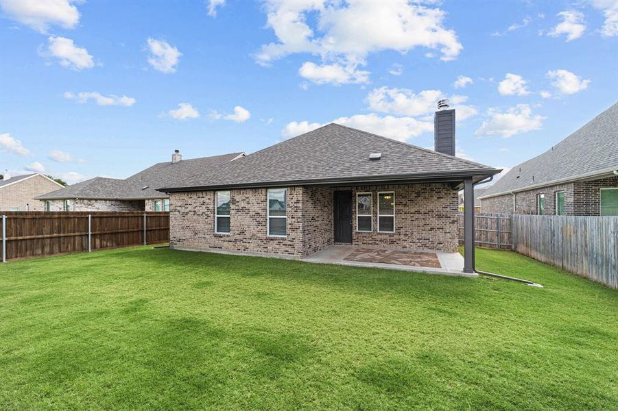
[[[556,192],[564,191],[567,216],[598,216],[601,188],[618,188],[618,177],[575,182],[515,193],[515,214],[538,214],[536,196],[545,194],[545,215],[556,214]],[[512,195],[482,200],[484,214],[513,214]]]

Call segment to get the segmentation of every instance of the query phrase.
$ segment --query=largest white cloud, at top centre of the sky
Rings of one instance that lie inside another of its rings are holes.
[[[444,11],[407,0],[268,0],[265,10],[277,41],[262,45],[255,56],[263,65],[311,53],[320,55],[322,66],[337,64],[356,73],[370,53],[383,50],[405,53],[426,47],[440,51],[442,60],[453,60],[462,50],[455,32],[444,27]]]

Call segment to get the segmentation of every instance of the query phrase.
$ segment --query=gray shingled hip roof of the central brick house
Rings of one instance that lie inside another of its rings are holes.
[[[382,153],[381,160],[369,160]],[[410,175],[491,175],[499,171],[404,142],[329,124],[200,173],[163,191],[227,186],[378,181]]]

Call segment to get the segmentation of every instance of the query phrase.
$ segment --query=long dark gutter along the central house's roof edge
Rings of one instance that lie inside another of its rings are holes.
[[[219,184],[212,186],[189,186],[189,187],[167,187],[157,188],[161,192],[186,192],[220,190],[225,188],[262,188],[262,187],[281,187],[281,186],[309,186],[309,185],[347,185],[359,183],[384,183],[384,182],[453,182],[459,181],[462,177],[469,176],[490,176],[499,173],[499,169],[479,169],[479,170],[457,170],[444,171],[440,173],[417,173],[417,174],[394,174],[394,175],[375,175],[347,178],[322,178],[322,179],[302,179],[302,180],[280,180],[275,182],[255,182],[241,184]]]

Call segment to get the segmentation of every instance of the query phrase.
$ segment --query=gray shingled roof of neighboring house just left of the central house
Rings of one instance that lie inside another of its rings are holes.
[[[60,190],[48,192],[37,199],[150,199],[167,197],[155,189],[174,184],[198,173],[209,173],[213,167],[237,158],[242,153],[193,158],[180,162],[161,162],[127,179],[95,177]],[[145,187],[145,188],[144,188]]]

